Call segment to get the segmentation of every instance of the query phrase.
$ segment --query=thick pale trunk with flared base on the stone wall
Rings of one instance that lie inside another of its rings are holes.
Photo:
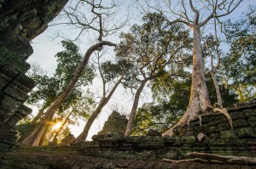
[[[204,72],[204,62],[201,51],[200,28],[193,25],[193,68],[192,68],[192,85],[189,99],[189,106],[177,124],[174,127],[181,126],[185,121],[195,117],[199,110],[207,110],[207,106],[211,106],[209,94],[207,91],[207,83]],[[173,128],[164,132],[162,135],[172,135]]]

